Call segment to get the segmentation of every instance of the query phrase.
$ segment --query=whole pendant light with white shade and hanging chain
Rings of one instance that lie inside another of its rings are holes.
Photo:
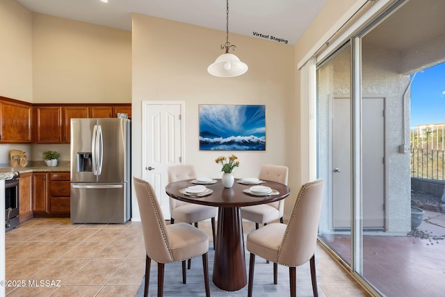
[[[226,26],[226,42],[221,45],[221,49],[225,49],[225,54],[216,58],[215,62],[207,67],[207,71],[215,77],[238,77],[248,71],[248,65],[241,62],[234,54],[229,54],[229,49],[235,50],[234,45],[229,42],[229,0],[226,6],[227,26]]]

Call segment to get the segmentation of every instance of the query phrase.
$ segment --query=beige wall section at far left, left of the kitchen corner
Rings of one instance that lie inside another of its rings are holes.
[[[0,96],[33,102],[31,12],[0,1]]]

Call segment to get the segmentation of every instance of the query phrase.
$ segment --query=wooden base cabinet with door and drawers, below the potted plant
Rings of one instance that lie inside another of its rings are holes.
[[[70,217],[70,172],[33,173],[35,218]]]

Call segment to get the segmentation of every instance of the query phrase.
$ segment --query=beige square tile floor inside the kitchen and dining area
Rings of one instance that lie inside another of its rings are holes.
[[[211,240],[210,222],[200,228]],[[254,225],[245,222],[243,228],[250,232]],[[8,297],[134,296],[145,271],[140,222],[72,224],[69,218],[33,218],[7,232],[5,244],[6,279],[26,284],[6,287]],[[368,296],[320,246],[316,259],[320,296]]]

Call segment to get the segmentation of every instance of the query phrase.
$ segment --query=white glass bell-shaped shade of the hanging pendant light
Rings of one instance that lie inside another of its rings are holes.
[[[248,65],[241,62],[234,54],[222,54],[207,67],[207,71],[215,77],[238,77],[248,71]]]

